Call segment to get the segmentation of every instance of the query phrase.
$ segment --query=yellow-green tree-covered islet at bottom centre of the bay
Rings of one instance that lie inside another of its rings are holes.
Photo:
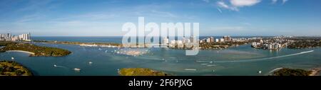
[[[147,68],[123,68],[118,71],[121,76],[170,76],[165,72],[158,72]]]

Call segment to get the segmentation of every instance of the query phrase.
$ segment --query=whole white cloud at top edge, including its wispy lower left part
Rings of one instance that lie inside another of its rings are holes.
[[[224,1],[217,1],[216,5],[223,9],[229,9],[232,11],[239,11],[238,8],[243,6],[253,6],[260,3],[261,0],[228,0],[230,4],[226,4]]]

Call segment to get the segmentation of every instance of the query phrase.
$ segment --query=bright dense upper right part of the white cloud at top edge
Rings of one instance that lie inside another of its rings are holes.
[[[253,6],[255,4],[258,4],[260,0],[230,0],[230,4],[237,7],[242,6]]]

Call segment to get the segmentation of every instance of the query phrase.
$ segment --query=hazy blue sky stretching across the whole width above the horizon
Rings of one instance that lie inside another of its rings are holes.
[[[0,0],[0,33],[121,36],[123,23],[200,23],[200,35],[321,35],[320,0]]]

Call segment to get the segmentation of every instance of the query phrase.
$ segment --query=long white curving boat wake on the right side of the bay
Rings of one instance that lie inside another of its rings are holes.
[[[305,51],[305,52],[299,52],[299,53],[290,54],[290,55],[282,55],[282,56],[277,56],[277,57],[266,57],[266,58],[260,58],[260,59],[252,59],[252,60],[217,61],[217,62],[214,62],[214,63],[256,62],[256,61],[262,61],[262,60],[272,60],[272,59],[276,59],[276,58],[290,57],[290,56],[295,56],[295,55],[302,55],[302,54],[306,54],[306,53],[309,53],[309,52],[314,52],[314,50]]]

